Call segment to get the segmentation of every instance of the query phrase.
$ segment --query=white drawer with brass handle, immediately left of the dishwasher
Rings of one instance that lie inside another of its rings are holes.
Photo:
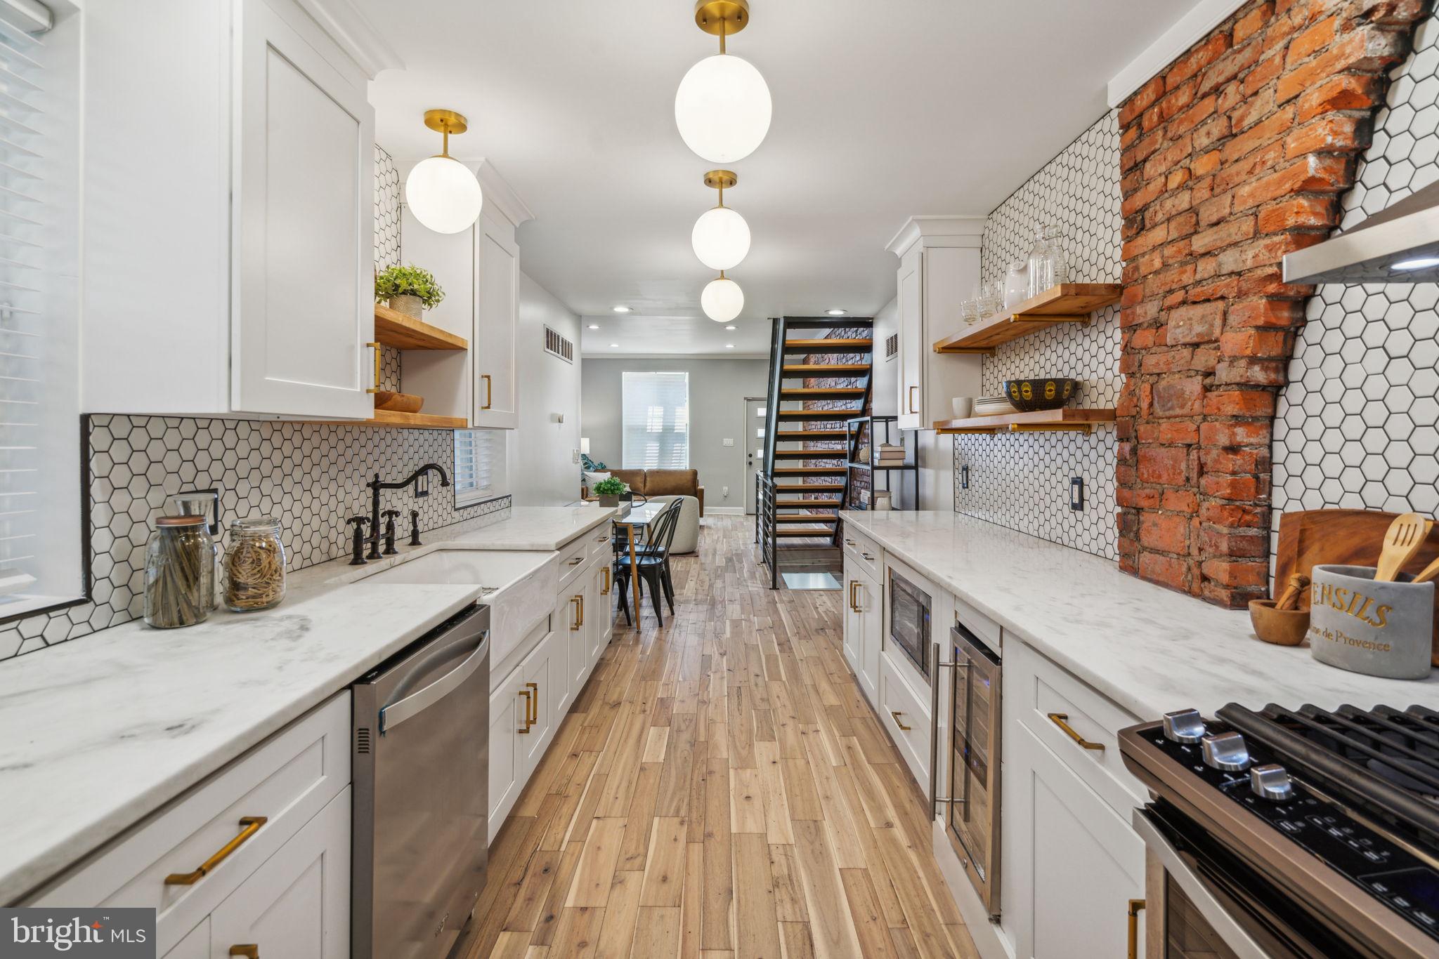
[[[350,692],[255,746],[29,906],[155,910],[164,955],[350,784]]]

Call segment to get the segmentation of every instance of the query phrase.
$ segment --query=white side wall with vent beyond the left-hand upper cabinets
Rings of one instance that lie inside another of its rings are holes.
[[[574,344],[574,362],[545,352],[545,325]],[[580,497],[580,318],[521,272],[517,336],[519,427],[508,437],[509,490],[517,506],[561,506]]]

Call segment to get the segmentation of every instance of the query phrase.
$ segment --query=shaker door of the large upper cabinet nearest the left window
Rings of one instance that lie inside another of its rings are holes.
[[[366,418],[374,403],[374,114],[263,0],[237,4],[232,405]]]

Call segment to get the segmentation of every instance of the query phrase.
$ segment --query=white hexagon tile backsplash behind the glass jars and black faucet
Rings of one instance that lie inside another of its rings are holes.
[[[377,470],[394,479],[455,462],[449,430],[96,414],[86,439],[91,600],[0,625],[0,660],[140,618],[145,539],[173,493],[217,487],[224,523],[278,518],[294,571],[347,555],[344,520],[368,513],[364,483]],[[420,510],[425,531],[498,522],[509,508],[505,496],[456,509],[450,490],[396,502]]]

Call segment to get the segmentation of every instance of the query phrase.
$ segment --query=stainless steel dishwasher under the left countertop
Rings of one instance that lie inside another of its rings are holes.
[[[442,959],[489,861],[489,607],[353,686],[353,959]]]

